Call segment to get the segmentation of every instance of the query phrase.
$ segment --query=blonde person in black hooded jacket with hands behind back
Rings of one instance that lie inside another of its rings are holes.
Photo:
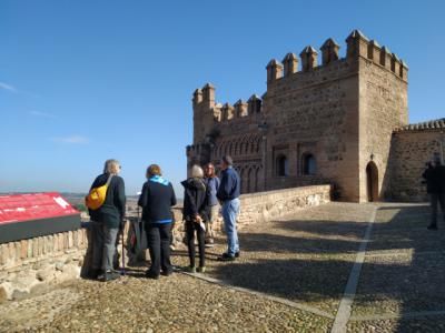
[[[198,236],[199,266],[198,272],[206,271],[206,226],[207,221],[207,192],[202,169],[198,165],[191,168],[191,176],[181,182],[184,193],[184,220],[186,221],[187,246],[190,265],[188,271],[196,272],[195,266],[195,232]]]

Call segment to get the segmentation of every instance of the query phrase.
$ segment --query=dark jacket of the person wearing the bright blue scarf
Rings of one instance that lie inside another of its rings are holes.
[[[145,182],[138,205],[142,208],[146,223],[171,223],[171,206],[176,204],[174,186],[162,178],[150,178]]]

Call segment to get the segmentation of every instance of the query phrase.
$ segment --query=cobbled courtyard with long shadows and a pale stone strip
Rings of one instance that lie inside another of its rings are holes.
[[[76,281],[0,305],[0,331],[445,332],[445,225],[428,218],[423,204],[305,209],[244,228],[236,262],[216,261],[218,240],[205,275]]]

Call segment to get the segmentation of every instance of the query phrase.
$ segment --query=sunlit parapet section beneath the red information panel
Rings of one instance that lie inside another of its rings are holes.
[[[85,229],[0,244],[0,302],[79,278]]]

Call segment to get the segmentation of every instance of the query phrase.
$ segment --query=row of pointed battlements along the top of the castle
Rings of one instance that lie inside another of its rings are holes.
[[[336,80],[342,75],[348,75],[356,71],[354,63],[359,59],[407,82],[407,64],[387,47],[380,47],[376,40],[369,40],[359,30],[354,30],[345,41],[346,57],[340,58],[340,46],[334,39],[328,38],[319,48],[322,63],[318,60],[319,52],[312,46],[306,46],[299,53],[299,58],[289,52],[283,61],[271,59],[266,65],[267,93],[273,95],[276,89],[281,89],[284,84],[287,84],[287,80],[295,81],[296,88],[308,88],[320,82],[317,75],[325,77],[324,80],[329,80],[329,78]],[[326,74],[328,72],[329,74]],[[231,123],[263,112],[263,99],[257,94],[253,94],[247,101],[240,99],[235,104],[217,103],[215,90],[215,85],[211,83],[196,89],[192,104],[195,110],[208,112],[211,121],[216,124]]]

